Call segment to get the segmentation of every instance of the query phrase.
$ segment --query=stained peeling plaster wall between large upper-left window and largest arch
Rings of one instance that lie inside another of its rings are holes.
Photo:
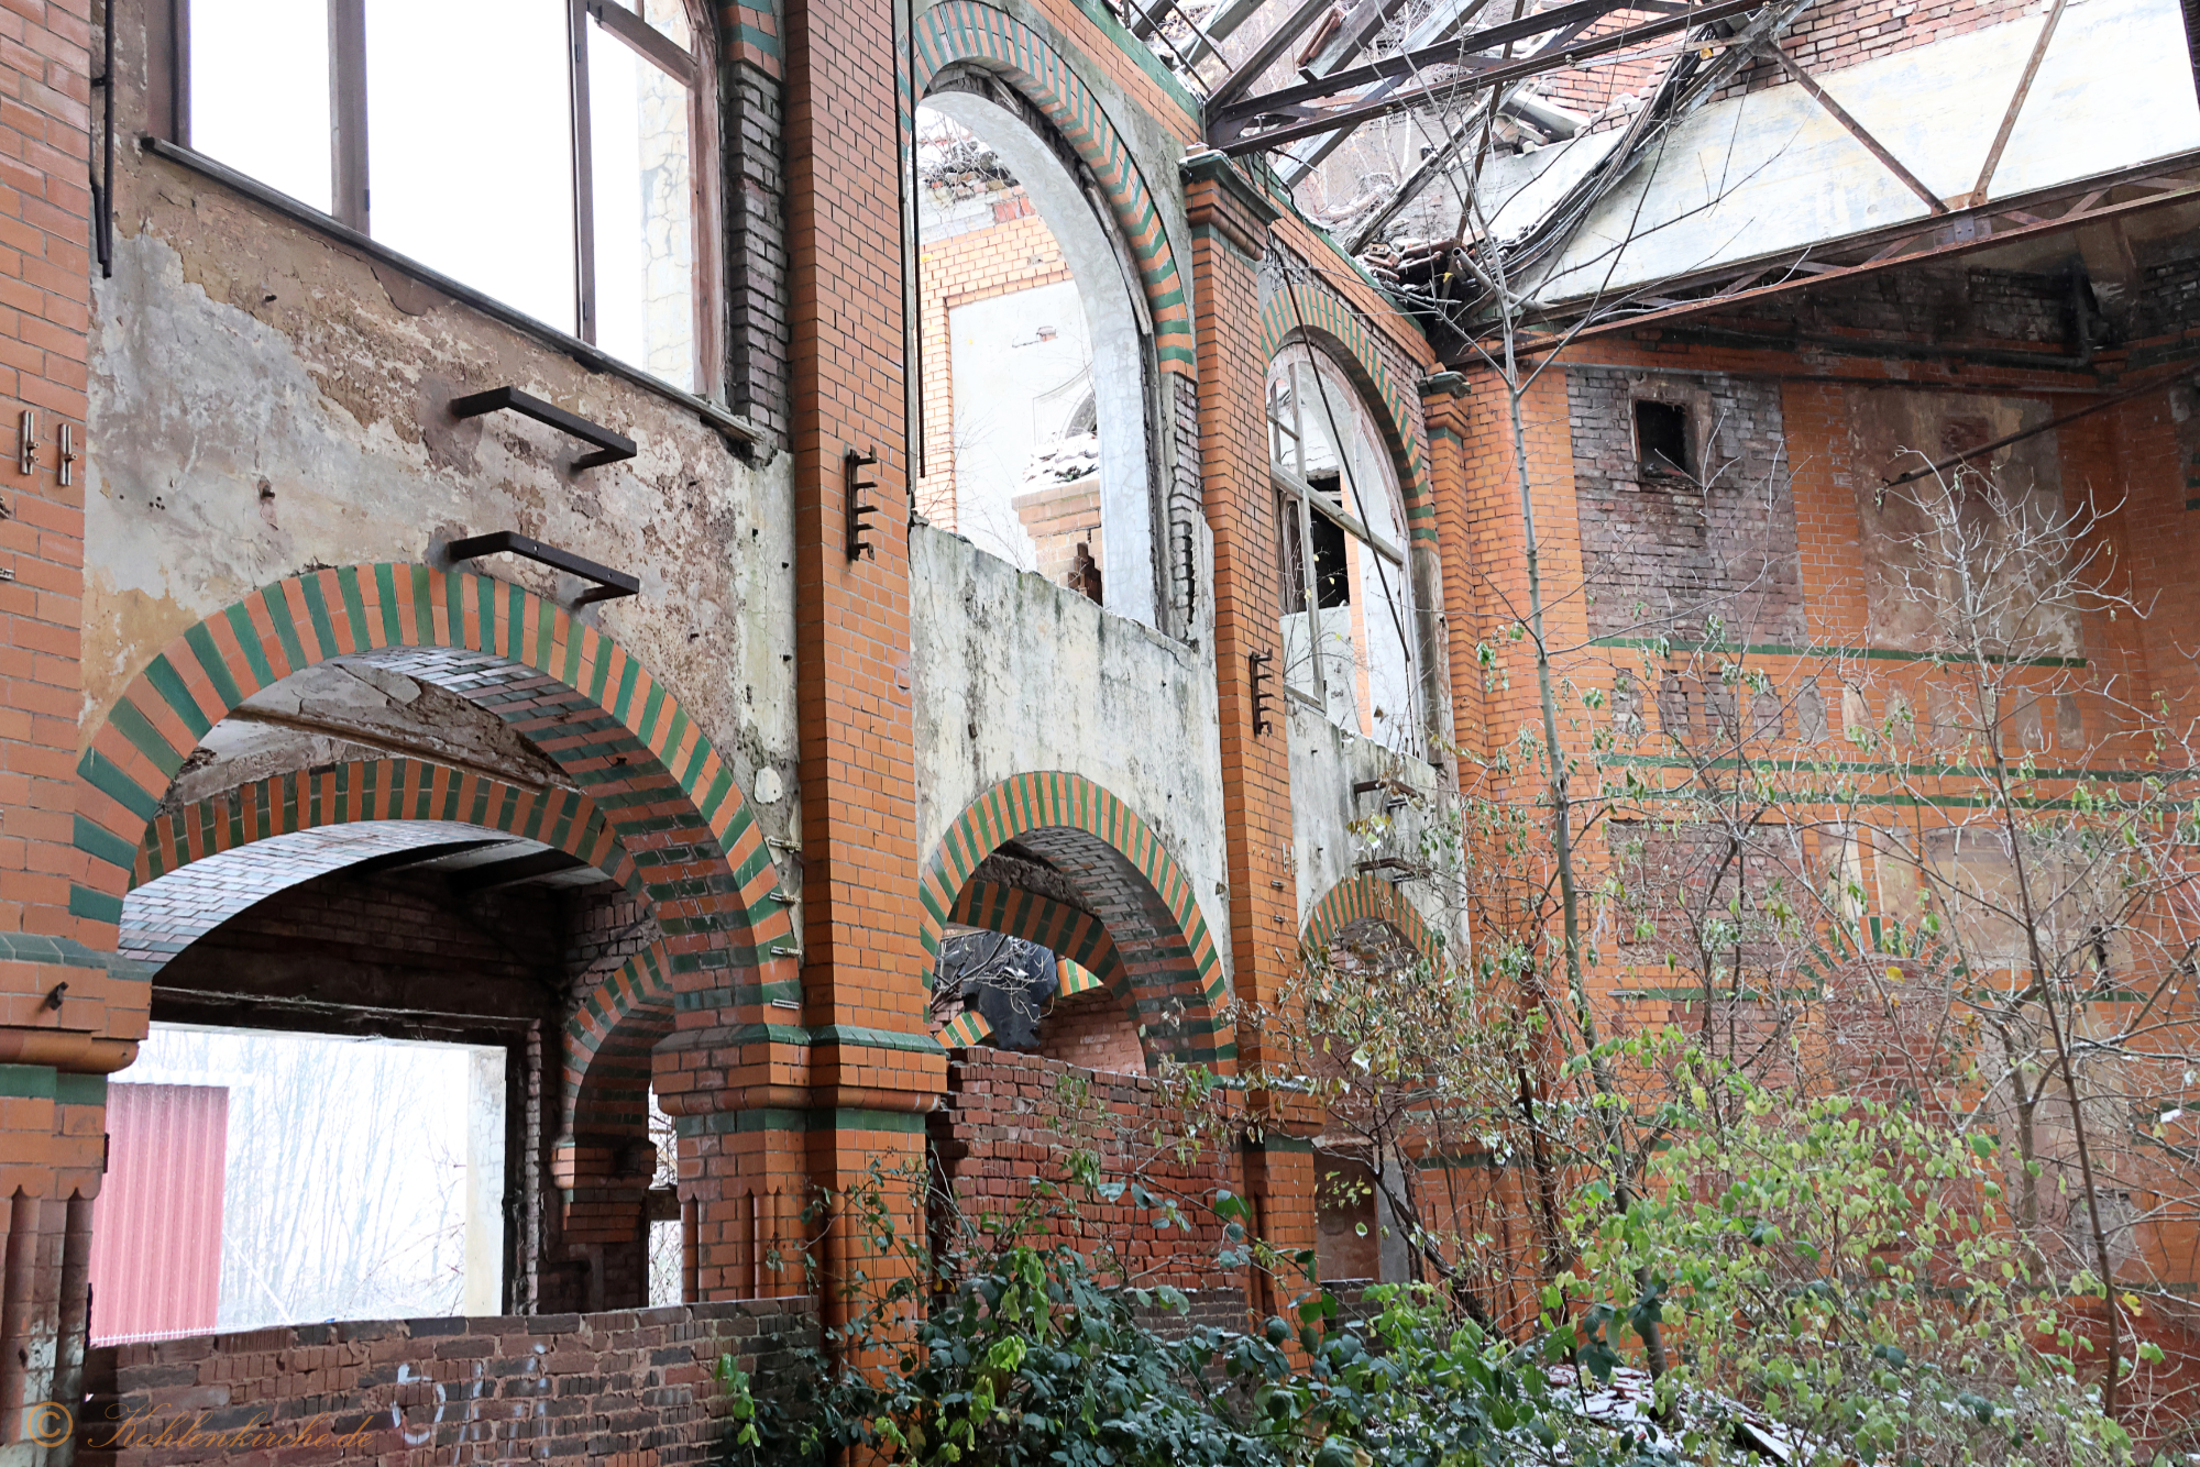
[[[792,785],[788,455],[744,462],[691,409],[183,167],[117,172],[114,277],[95,279],[90,341],[84,739],[165,642],[268,581],[433,563],[449,539],[510,528],[640,576],[640,596],[579,618],[682,699],[746,792],[759,768]],[[449,416],[453,396],[506,383],[640,455],[574,473],[576,444],[548,427]],[[475,567],[576,589],[506,556]],[[792,801],[759,816],[792,834]]]

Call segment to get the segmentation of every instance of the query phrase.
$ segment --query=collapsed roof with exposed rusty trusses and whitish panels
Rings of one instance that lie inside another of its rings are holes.
[[[2200,194],[2180,0],[1115,2],[1439,350]]]

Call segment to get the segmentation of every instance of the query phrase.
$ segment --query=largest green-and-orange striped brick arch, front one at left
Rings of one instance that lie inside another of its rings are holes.
[[[198,739],[253,693],[328,658],[372,658],[497,713],[603,814],[660,913],[673,988],[728,992],[779,968],[790,933],[777,871],[730,765],[609,636],[524,587],[427,565],[290,576],[198,622],[130,682],[77,761],[70,911],[121,919],[147,823]]]

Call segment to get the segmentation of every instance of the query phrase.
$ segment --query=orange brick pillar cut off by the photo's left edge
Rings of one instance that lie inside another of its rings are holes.
[[[108,972],[121,893],[75,849],[90,323],[90,42],[81,0],[15,7],[0,57],[0,1463],[40,1463],[35,1405],[79,1386],[106,1073],[145,1034]],[[20,413],[37,413],[31,473]],[[66,475],[66,484],[64,484]]]

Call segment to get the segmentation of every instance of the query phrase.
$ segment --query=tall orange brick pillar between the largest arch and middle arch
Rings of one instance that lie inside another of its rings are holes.
[[[860,1185],[873,1161],[917,1181],[922,1113],[946,1089],[915,922],[893,18],[854,0],[785,9],[805,1139],[812,1181],[836,1192]],[[876,506],[862,559],[849,559],[849,451],[878,455],[862,471],[876,484],[862,490]],[[915,1234],[915,1194],[904,1201]],[[854,1267],[880,1276],[843,1251],[860,1251],[851,1232],[827,1234],[827,1280]],[[827,1282],[823,1293],[836,1317],[838,1291]]]

